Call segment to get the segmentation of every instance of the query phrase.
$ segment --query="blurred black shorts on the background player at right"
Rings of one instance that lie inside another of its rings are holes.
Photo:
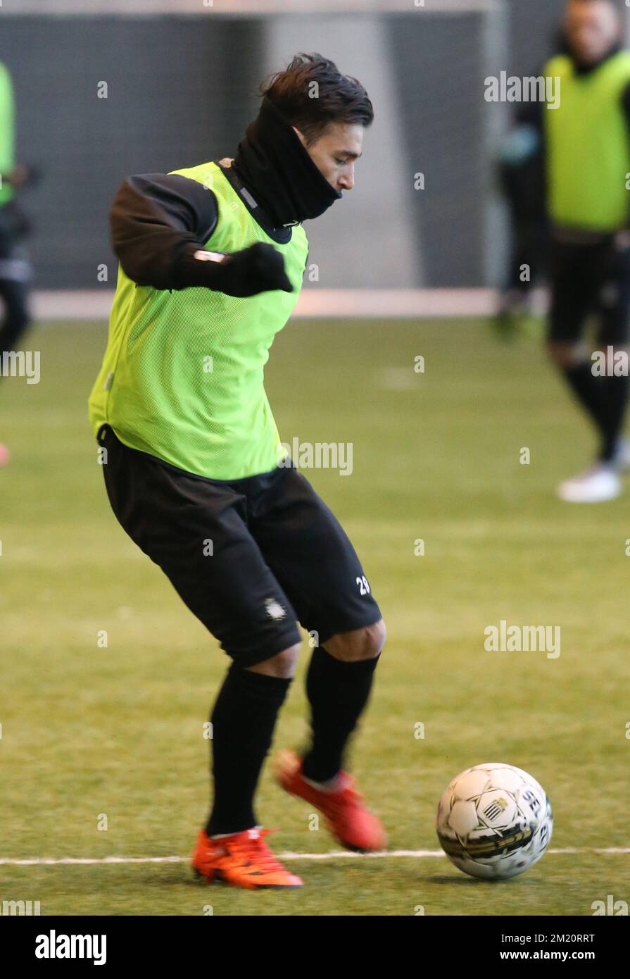
[[[630,248],[615,236],[595,244],[553,241],[552,303],[549,340],[577,344],[586,319],[600,317],[597,341],[603,347],[624,347],[630,315]]]

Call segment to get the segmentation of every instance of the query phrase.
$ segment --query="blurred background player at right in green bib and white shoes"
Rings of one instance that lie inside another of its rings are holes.
[[[630,54],[621,48],[612,0],[568,0],[564,31],[567,53],[544,71],[561,79],[560,107],[539,114],[552,235],[548,349],[600,437],[595,464],[562,483],[559,495],[595,503],[617,496],[620,473],[630,468],[630,446],[622,437],[630,311]],[[605,372],[582,343],[591,313],[599,319]]]

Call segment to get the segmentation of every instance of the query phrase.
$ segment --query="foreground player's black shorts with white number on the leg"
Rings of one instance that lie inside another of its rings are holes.
[[[99,443],[118,522],[241,666],[298,643],[297,622],[321,645],[381,619],[352,544],[293,463],[210,480],[129,448],[110,426]]]

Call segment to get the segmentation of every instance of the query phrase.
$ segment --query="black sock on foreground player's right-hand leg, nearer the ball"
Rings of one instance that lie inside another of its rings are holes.
[[[375,656],[346,663],[321,646],[314,650],[306,675],[312,745],[302,769],[314,782],[329,781],[341,768],[343,749],[368,702],[378,660]]]

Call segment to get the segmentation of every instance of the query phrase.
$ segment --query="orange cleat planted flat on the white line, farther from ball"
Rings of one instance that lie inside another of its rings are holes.
[[[197,838],[193,869],[209,884],[221,880],[233,887],[301,887],[302,881],[277,861],[264,837],[273,829],[244,829],[212,839],[204,829]]]

